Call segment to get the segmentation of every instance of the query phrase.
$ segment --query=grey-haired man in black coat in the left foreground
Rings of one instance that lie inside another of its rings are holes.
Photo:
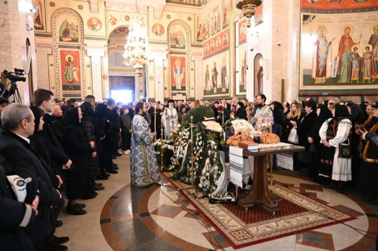
[[[0,154],[13,171],[17,168],[28,169],[38,181],[39,213],[35,226],[26,229],[26,233],[36,249],[41,250],[44,249],[46,237],[53,231],[51,207],[59,204],[62,195],[53,188],[48,170],[41,164],[38,153],[32,149],[27,139],[34,132],[34,115],[29,107],[13,103],[1,113],[1,121]]]

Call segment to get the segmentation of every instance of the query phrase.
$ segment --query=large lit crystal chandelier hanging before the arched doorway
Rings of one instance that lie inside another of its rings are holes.
[[[138,79],[142,76],[144,65],[149,61],[150,53],[147,28],[143,20],[138,18],[139,11],[135,2],[134,22],[133,26],[129,28],[124,53],[124,64],[133,65]]]

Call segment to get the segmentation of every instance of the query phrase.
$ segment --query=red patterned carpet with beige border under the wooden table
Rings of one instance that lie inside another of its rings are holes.
[[[176,188],[189,187],[180,181],[170,180],[171,173],[163,175]],[[283,198],[275,216],[261,205],[244,211],[237,204],[210,204],[206,198],[195,198],[185,190],[182,193],[235,249],[356,219],[284,186],[274,185],[269,189]]]

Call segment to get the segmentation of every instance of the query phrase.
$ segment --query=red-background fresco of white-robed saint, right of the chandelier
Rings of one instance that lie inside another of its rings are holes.
[[[185,90],[187,69],[185,56],[171,56],[172,91]]]

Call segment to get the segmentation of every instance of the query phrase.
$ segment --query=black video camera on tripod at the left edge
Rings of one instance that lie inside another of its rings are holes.
[[[2,76],[4,76],[4,78],[10,81],[9,83],[10,87],[9,89],[7,89],[6,86],[4,86],[4,88],[2,89],[1,88],[2,86],[0,86],[1,96],[3,96],[4,98],[9,98],[10,96],[14,95],[14,101],[17,103],[22,103],[21,95],[20,95],[20,92],[18,91],[16,82],[26,81],[26,78],[22,77],[24,76],[24,70],[17,69],[17,68],[14,68],[14,72],[8,72],[7,70],[4,70],[2,72]]]

